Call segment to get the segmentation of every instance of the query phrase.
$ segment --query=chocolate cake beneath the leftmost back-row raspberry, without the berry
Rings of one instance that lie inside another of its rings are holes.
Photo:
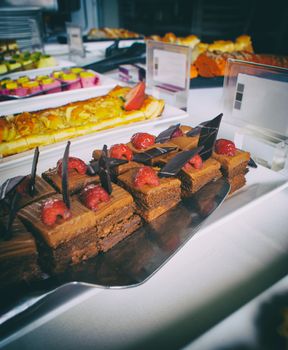
[[[49,169],[42,173],[42,177],[50,185],[52,185],[57,192],[62,193],[62,177],[58,174],[57,168]],[[69,193],[74,194],[80,192],[86,185],[90,183],[98,183],[99,176],[90,176],[87,174],[80,174],[75,169],[70,169],[68,172],[68,186]]]

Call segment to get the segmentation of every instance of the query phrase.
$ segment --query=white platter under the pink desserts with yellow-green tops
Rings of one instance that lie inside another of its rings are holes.
[[[46,69],[46,72],[43,72],[43,74],[50,74],[53,70],[54,69],[51,68],[49,71]],[[39,75],[39,73],[35,74],[34,72],[28,76],[34,78],[36,75]],[[93,87],[0,102],[0,115],[21,113],[23,111],[37,111],[39,109],[61,106],[73,101],[86,100],[90,97],[104,95],[114,86],[119,84],[116,80],[106,77],[105,75],[99,73],[97,73],[97,75],[100,81],[98,85]]]

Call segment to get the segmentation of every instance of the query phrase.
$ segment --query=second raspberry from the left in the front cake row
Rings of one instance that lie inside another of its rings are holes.
[[[81,195],[81,200],[85,206],[91,210],[97,210],[98,204],[101,202],[109,202],[109,194],[100,185],[86,186]]]

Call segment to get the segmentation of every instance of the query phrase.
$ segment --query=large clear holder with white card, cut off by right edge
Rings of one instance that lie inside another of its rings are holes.
[[[236,127],[235,144],[273,170],[288,167],[288,70],[229,60],[224,120]]]

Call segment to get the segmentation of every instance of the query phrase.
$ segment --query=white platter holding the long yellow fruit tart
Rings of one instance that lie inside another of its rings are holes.
[[[78,90],[78,93],[79,91],[81,90]],[[165,105],[161,117],[157,119],[118,126],[113,129],[71,139],[70,154],[88,162],[91,160],[92,151],[95,148],[102,148],[103,144],[109,146],[115,143],[128,142],[133,133],[143,130],[157,135],[160,131],[165,130],[168,125],[175,123],[175,121],[186,123],[185,119],[188,116],[181,109]],[[57,160],[63,156],[65,146],[66,141],[40,147],[38,173],[45,171],[49,167],[54,167]],[[0,159],[0,183],[13,176],[29,174],[33,153],[34,151],[31,150]]]

